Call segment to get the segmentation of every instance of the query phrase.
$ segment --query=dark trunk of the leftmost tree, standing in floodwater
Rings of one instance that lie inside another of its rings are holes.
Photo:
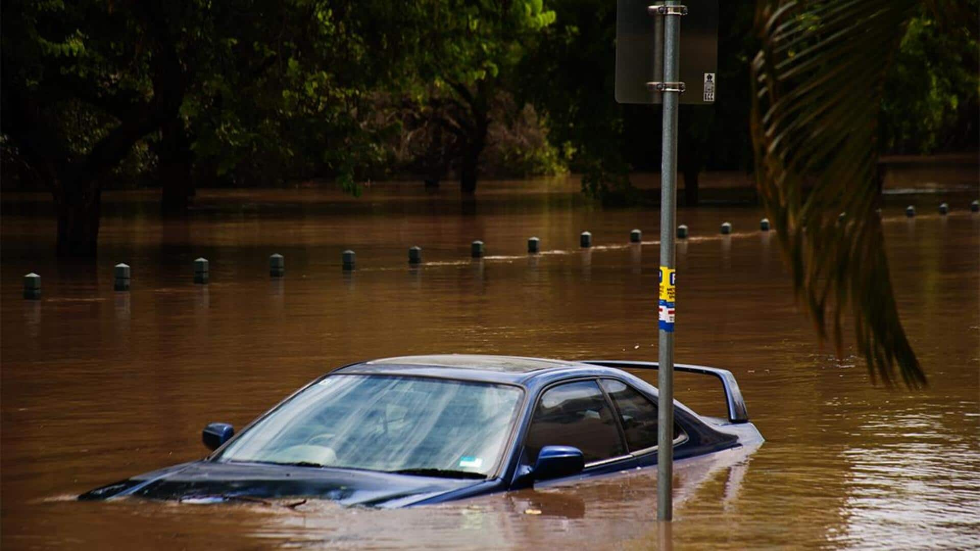
[[[59,183],[53,186],[58,209],[58,256],[95,258],[102,191],[94,181]]]

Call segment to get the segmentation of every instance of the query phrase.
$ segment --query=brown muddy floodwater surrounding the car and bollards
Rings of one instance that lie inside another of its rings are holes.
[[[2,544],[30,548],[976,548],[980,546],[977,189],[886,198],[893,280],[931,386],[872,386],[816,342],[755,207],[681,210],[678,362],[739,379],[766,442],[677,467],[675,522],[656,473],[406,510],[328,502],[79,503],[73,496],[205,455],[208,422],[244,426],[311,378],[421,353],[657,359],[658,212],[603,210],[574,182],[452,190],[204,191],[187,221],[154,193],[105,196],[95,268],[58,265],[45,196],[4,196]],[[936,214],[950,202],[946,217]],[[906,204],[919,216],[906,219]],[[718,225],[731,222],[730,236]],[[633,227],[642,246],[627,243]],[[578,248],[589,229],[596,246]],[[543,254],[524,254],[527,237]],[[487,257],[468,258],[469,242]],[[410,270],[407,249],[423,248]],[[341,272],[353,248],[358,270]],[[285,256],[270,280],[268,257]],[[210,285],[191,262],[211,261]],[[113,291],[112,267],[132,266]],[[21,277],[43,277],[43,299]],[[656,383],[655,374],[647,374]],[[678,398],[717,414],[710,384]]]

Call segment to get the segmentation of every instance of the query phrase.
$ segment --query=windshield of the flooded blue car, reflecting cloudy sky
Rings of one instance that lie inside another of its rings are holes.
[[[327,376],[228,444],[215,459],[489,476],[522,391],[413,376]]]

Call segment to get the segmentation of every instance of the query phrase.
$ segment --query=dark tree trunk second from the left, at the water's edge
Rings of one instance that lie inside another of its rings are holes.
[[[190,137],[179,118],[163,125],[162,130],[158,170],[163,186],[161,207],[165,215],[178,215],[187,210],[194,195],[194,153],[190,149]]]

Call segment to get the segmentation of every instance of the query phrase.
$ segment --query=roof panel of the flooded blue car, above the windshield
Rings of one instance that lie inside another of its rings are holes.
[[[606,368],[598,368],[607,371]],[[370,360],[345,366],[334,374],[363,375],[405,375],[437,376],[482,380],[487,382],[510,382],[521,384],[535,376],[556,371],[596,371],[595,366],[549,360],[544,358],[522,358],[519,356],[490,356],[481,354],[434,354],[427,356],[399,356]]]

